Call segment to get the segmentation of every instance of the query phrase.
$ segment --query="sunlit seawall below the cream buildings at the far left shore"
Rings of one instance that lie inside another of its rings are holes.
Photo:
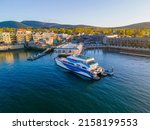
[[[3,45],[0,46],[0,51],[10,51],[24,49],[24,45]]]

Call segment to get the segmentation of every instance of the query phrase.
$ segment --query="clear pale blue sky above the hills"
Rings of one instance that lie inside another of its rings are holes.
[[[0,0],[0,21],[116,27],[150,22],[150,0]]]

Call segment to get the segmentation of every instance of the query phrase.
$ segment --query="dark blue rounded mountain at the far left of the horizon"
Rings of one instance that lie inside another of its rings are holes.
[[[0,28],[29,28],[30,26],[25,25],[16,21],[4,21],[0,22]]]

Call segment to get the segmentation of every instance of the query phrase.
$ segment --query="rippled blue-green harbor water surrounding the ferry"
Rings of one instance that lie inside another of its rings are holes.
[[[87,50],[115,74],[99,81],[64,72],[37,52],[0,52],[0,112],[150,112],[150,58]]]

